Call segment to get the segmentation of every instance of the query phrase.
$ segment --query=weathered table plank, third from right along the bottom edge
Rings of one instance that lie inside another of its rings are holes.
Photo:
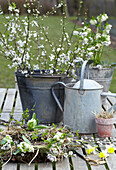
[[[81,148],[79,148],[77,151],[80,154],[83,155]],[[78,156],[77,157],[72,157],[72,164],[73,164],[74,170],[82,170],[82,169],[88,170],[86,162],[83,159],[81,159],[80,157],[78,157]]]

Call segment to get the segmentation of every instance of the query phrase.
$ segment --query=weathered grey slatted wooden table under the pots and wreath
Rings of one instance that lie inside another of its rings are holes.
[[[103,108],[111,107],[116,103],[116,98],[107,98],[106,105]],[[0,88],[0,110],[1,110],[1,119],[6,121],[9,120],[9,115],[11,112],[14,112],[14,118],[20,120],[22,116],[22,106],[20,102],[19,93],[16,89],[6,89]],[[0,125],[2,126],[2,125]],[[92,135],[83,135],[82,138],[86,140],[93,140]],[[102,141],[102,138],[98,138],[95,135],[95,139],[97,141]],[[107,139],[110,142],[116,144],[116,129],[113,127],[112,137]],[[83,149],[79,148],[78,152],[83,153]],[[97,155],[90,155],[93,159],[99,159]],[[31,164],[30,166],[23,163],[8,163],[6,164],[2,170],[116,170],[116,154],[111,154],[110,157],[107,158],[106,163],[103,165],[93,166],[89,165],[86,161],[81,159],[80,157],[71,157],[64,159],[61,162],[57,163],[39,163],[39,164]]]

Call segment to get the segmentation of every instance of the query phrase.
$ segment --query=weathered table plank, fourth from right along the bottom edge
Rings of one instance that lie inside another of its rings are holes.
[[[56,163],[56,170],[63,170],[63,169],[70,170],[70,164],[68,158],[65,158],[63,161]]]

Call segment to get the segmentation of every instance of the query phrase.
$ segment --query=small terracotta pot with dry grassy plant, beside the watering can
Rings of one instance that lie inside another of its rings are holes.
[[[110,137],[114,123],[114,111],[103,111],[95,115],[98,136]]]

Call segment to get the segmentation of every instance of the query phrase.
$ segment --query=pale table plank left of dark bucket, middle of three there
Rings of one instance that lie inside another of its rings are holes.
[[[11,112],[15,100],[16,89],[8,89],[2,112]]]

